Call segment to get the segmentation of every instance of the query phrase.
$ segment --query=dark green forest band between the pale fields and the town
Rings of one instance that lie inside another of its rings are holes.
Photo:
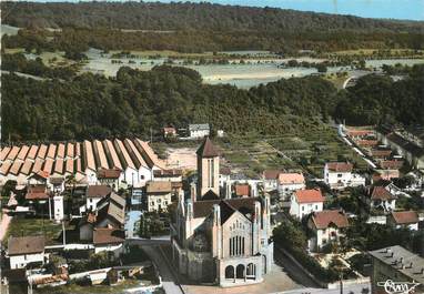
[[[369,75],[340,91],[319,78],[292,78],[242,90],[202,83],[196,71],[121,68],[115,78],[92,73],[69,81],[2,75],[2,138],[69,140],[148,134],[164,125],[209,122],[230,133],[281,134],[314,128],[330,116],[349,123],[391,119],[424,124],[424,67],[393,82]],[[18,115],[17,115],[18,114]]]

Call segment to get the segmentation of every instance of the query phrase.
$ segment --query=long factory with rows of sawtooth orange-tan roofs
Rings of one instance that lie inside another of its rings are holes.
[[[11,145],[0,150],[0,185],[8,180],[26,184],[40,171],[52,178],[74,175],[81,183],[97,184],[100,170],[119,169],[129,185],[153,180],[153,170],[165,163],[140,139]]]

